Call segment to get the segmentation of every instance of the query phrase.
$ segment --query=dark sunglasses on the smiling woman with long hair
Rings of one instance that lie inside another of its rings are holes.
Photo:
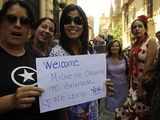
[[[71,24],[72,22],[74,22],[76,25],[82,25],[83,24],[82,18],[80,16],[76,16],[76,17],[67,16],[65,18],[64,24],[68,25],[68,24]]]

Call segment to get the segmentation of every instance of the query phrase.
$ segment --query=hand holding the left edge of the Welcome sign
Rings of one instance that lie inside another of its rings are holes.
[[[19,87],[15,94],[15,107],[19,109],[31,107],[36,97],[40,96],[43,90],[35,86]]]

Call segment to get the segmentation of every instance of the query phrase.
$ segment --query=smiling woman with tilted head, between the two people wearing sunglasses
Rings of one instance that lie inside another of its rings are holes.
[[[51,44],[54,42],[56,24],[53,19],[44,17],[38,20],[34,26],[34,35],[31,38],[31,48],[33,54],[39,54],[37,57],[48,56]]]

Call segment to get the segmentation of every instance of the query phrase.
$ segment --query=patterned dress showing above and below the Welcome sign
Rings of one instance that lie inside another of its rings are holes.
[[[70,55],[60,45],[52,48],[49,56],[68,56]],[[91,101],[74,105],[65,109],[67,120],[98,120],[98,101]],[[83,116],[83,118],[82,118]]]

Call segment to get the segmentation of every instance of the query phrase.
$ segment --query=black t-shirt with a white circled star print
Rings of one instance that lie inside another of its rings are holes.
[[[0,96],[15,93],[19,86],[36,84],[35,57],[32,53],[26,51],[23,56],[15,57],[0,47],[0,61]],[[59,120],[58,115],[59,111],[40,114],[37,98],[31,108],[0,114],[0,120]]]

